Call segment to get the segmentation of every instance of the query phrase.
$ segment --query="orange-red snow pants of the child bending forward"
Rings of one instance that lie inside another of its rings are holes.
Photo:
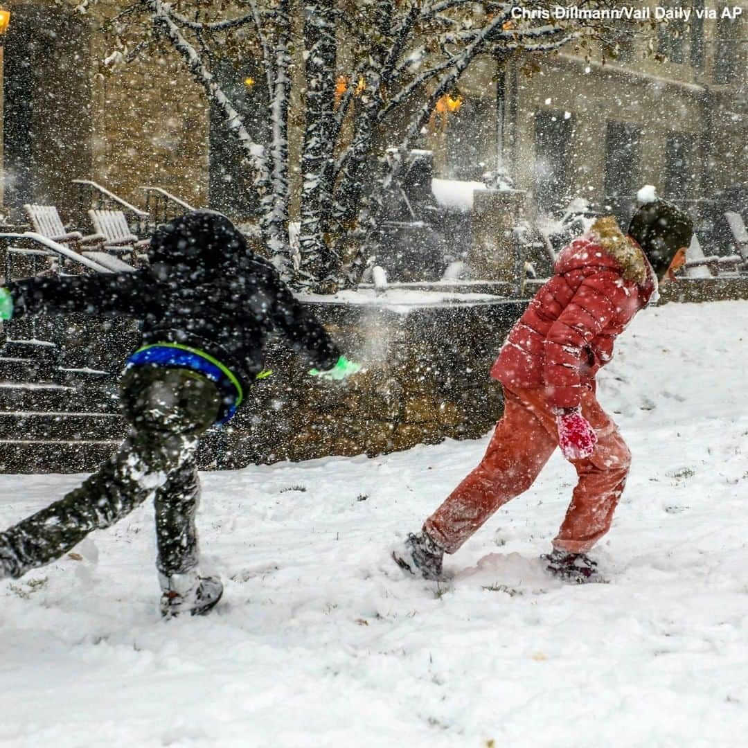
[[[598,443],[586,459],[573,460],[578,482],[554,548],[589,551],[610,529],[631,453],[595,393],[582,390],[582,414]],[[480,465],[432,514],[423,529],[453,554],[500,507],[527,491],[558,447],[556,416],[544,387],[504,387],[504,414]]]

